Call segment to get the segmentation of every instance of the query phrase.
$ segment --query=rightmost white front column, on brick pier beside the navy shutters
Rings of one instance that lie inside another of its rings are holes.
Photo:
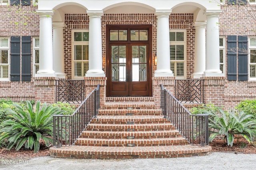
[[[219,15],[222,10],[206,10],[206,70],[204,77],[224,76],[220,70]]]

